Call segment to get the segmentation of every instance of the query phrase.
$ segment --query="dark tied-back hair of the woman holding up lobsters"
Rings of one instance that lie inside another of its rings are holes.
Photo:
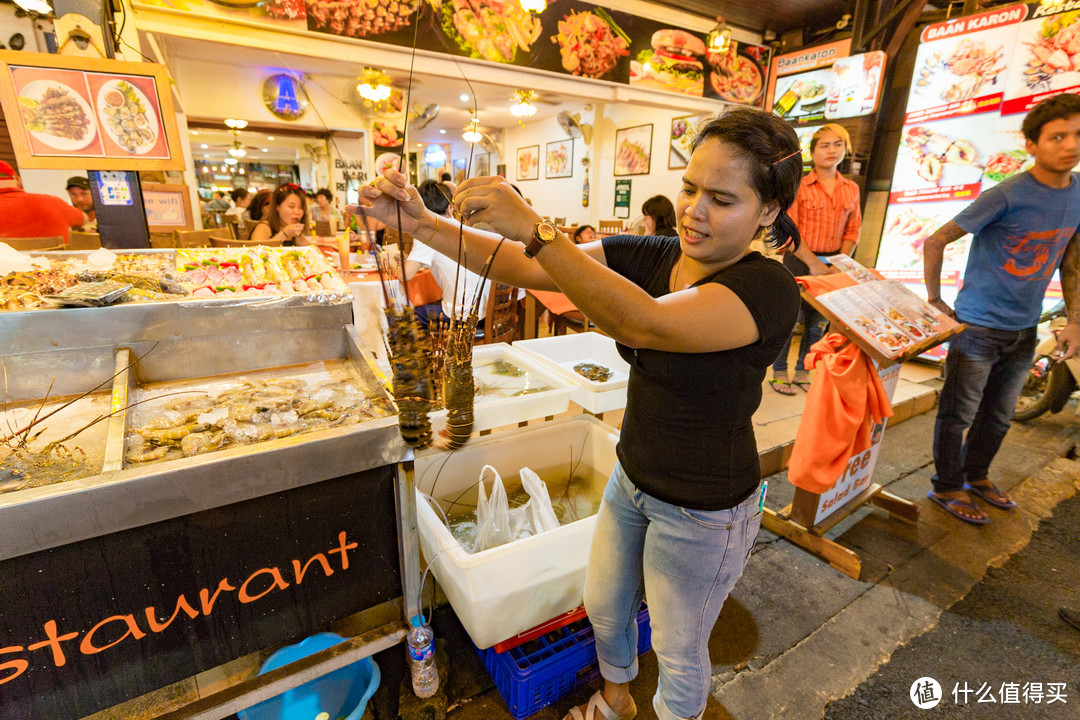
[[[779,203],[780,214],[772,223],[769,243],[783,247],[791,242],[793,249],[798,247],[799,230],[787,217],[802,179],[801,148],[795,130],[770,112],[732,108],[698,131],[691,154],[708,139],[727,144],[746,159],[750,185],[758,200]]]

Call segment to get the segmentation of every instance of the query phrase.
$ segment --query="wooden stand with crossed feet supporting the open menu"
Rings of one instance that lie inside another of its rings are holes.
[[[945,342],[968,327],[963,324],[956,325],[908,348],[901,355],[889,357],[861,338],[815,297],[804,290],[802,299],[828,320],[831,331],[847,337],[874,361],[874,365],[883,376],[882,381],[886,383],[890,400],[903,363]],[[889,368],[893,369],[890,371]],[[915,503],[887,492],[880,485],[870,481],[883,433],[882,423],[880,431],[875,433],[876,437],[870,447],[849,459],[843,475],[829,491],[816,493],[796,487],[795,497],[789,505],[779,512],[766,507],[761,518],[762,527],[816,555],[843,574],[858,580],[862,569],[859,554],[825,538],[825,533],[866,503],[885,510],[893,518],[908,525],[915,525],[919,518],[919,508]]]

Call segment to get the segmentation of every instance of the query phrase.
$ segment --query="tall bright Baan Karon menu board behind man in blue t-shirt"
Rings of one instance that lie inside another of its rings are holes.
[[[922,245],[995,185],[1034,164],[1021,123],[1039,100],[1080,91],[1080,11],[1014,4],[923,28],[877,269],[924,294]],[[963,284],[971,236],[945,248],[942,297]],[[1055,275],[1048,302],[1061,298]]]

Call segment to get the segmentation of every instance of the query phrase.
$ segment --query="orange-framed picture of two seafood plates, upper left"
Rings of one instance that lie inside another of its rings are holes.
[[[21,167],[185,168],[164,65],[0,51],[0,107]]]

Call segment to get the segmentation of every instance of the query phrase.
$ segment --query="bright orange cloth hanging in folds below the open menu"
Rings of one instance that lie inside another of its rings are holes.
[[[787,477],[820,494],[836,485],[853,454],[870,446],[870,429],[892,416],[892,404],[874,362],[838,332],[811,345],[806,364],[818,375],[807,394]]]

